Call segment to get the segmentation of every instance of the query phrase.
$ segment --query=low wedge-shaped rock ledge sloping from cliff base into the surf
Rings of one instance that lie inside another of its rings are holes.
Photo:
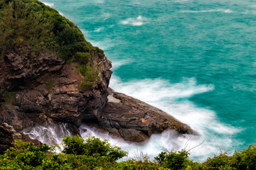
[[[195,134],[188,125],[154,106],[109,89],[109,101],[103,109],[100,126],[124,140],[142,142],[152,133],[166,129],[180,134]]]

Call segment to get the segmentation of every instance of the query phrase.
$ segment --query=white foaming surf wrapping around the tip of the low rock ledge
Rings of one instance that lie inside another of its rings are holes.
[[[212,84],[198,84],[195,78],[183,79],[176,84],[171,84],[164,79],[122,82],[113,75],[110,87],[160,108],[181,122],[190,125],[200,134],[200,136],[178,136],[174,135],[175,133],[172,131],[166,131],[162,134],[152,135],[149,142],[142,146],[144,152],[150,157],[159,154],[162,147],[170,150],[186,147],[189,150],[199,145],[191,150],[191,157],[203,161],[206,157],[218,154],[220,148],[231,151],[231,148],[241,144],[240,141],[234,142],[233,135],[242,129],[220,123],[214,111],[198,107],[189,101],[191,96],[213,91]],[[123,147],[126,148],[126,145]]]

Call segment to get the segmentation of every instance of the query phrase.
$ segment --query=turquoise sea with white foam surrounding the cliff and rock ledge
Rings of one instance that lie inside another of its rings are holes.
[[[194,159],[203,159],[256,143],[256,1],[43,2],[105,50],[113,64],[110,87],[161,108],[201,134],[153,135],[136,145],[147,154],[186,147]],[[116,143],[124,149],[134,145]]]

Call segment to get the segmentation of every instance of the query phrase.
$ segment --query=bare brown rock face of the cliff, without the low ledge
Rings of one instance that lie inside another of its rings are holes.
[[[18,134],[35,125],[57,122],[69,123],[70,130],[78,132],[76,129],[83,120],[98,120],[107,103],[112,74],[111,62],[103,53],[99,56],[94,67],[100,68],[101,79],[82,92],[79,88],[82,75],[75,63],[65,64],[55,56],[42,55],[33,64],[27,64],[26,57],[6,55],[0,62],[0,123]],[[7,134],[5,127],[1,127],[2,134]],[[0,144],[6,145],[3,141],[0,139]]]

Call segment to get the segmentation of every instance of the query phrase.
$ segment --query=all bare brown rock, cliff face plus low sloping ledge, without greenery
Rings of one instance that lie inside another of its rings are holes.
[[[180,134],[194,133],[188,125],[164,111],[108,88],[112,66],[103,53],[101,56],[95,67],[102,66],[102,79],[85,92],[79,89],[82,75],[76,71],[75,63],[38,56],[27,67],[26,60],[15,54],[0,62],[0,84],[4,87],[0,101],[1,148],[10,147],[15,139],[28,140],[22,134],[24,129],[58,123],[68,123],[75,135],[82,122],[93,122],[111,135],[135,142],[166,129]],[[13,98],[5,101],[10,91],[14,92]]]

